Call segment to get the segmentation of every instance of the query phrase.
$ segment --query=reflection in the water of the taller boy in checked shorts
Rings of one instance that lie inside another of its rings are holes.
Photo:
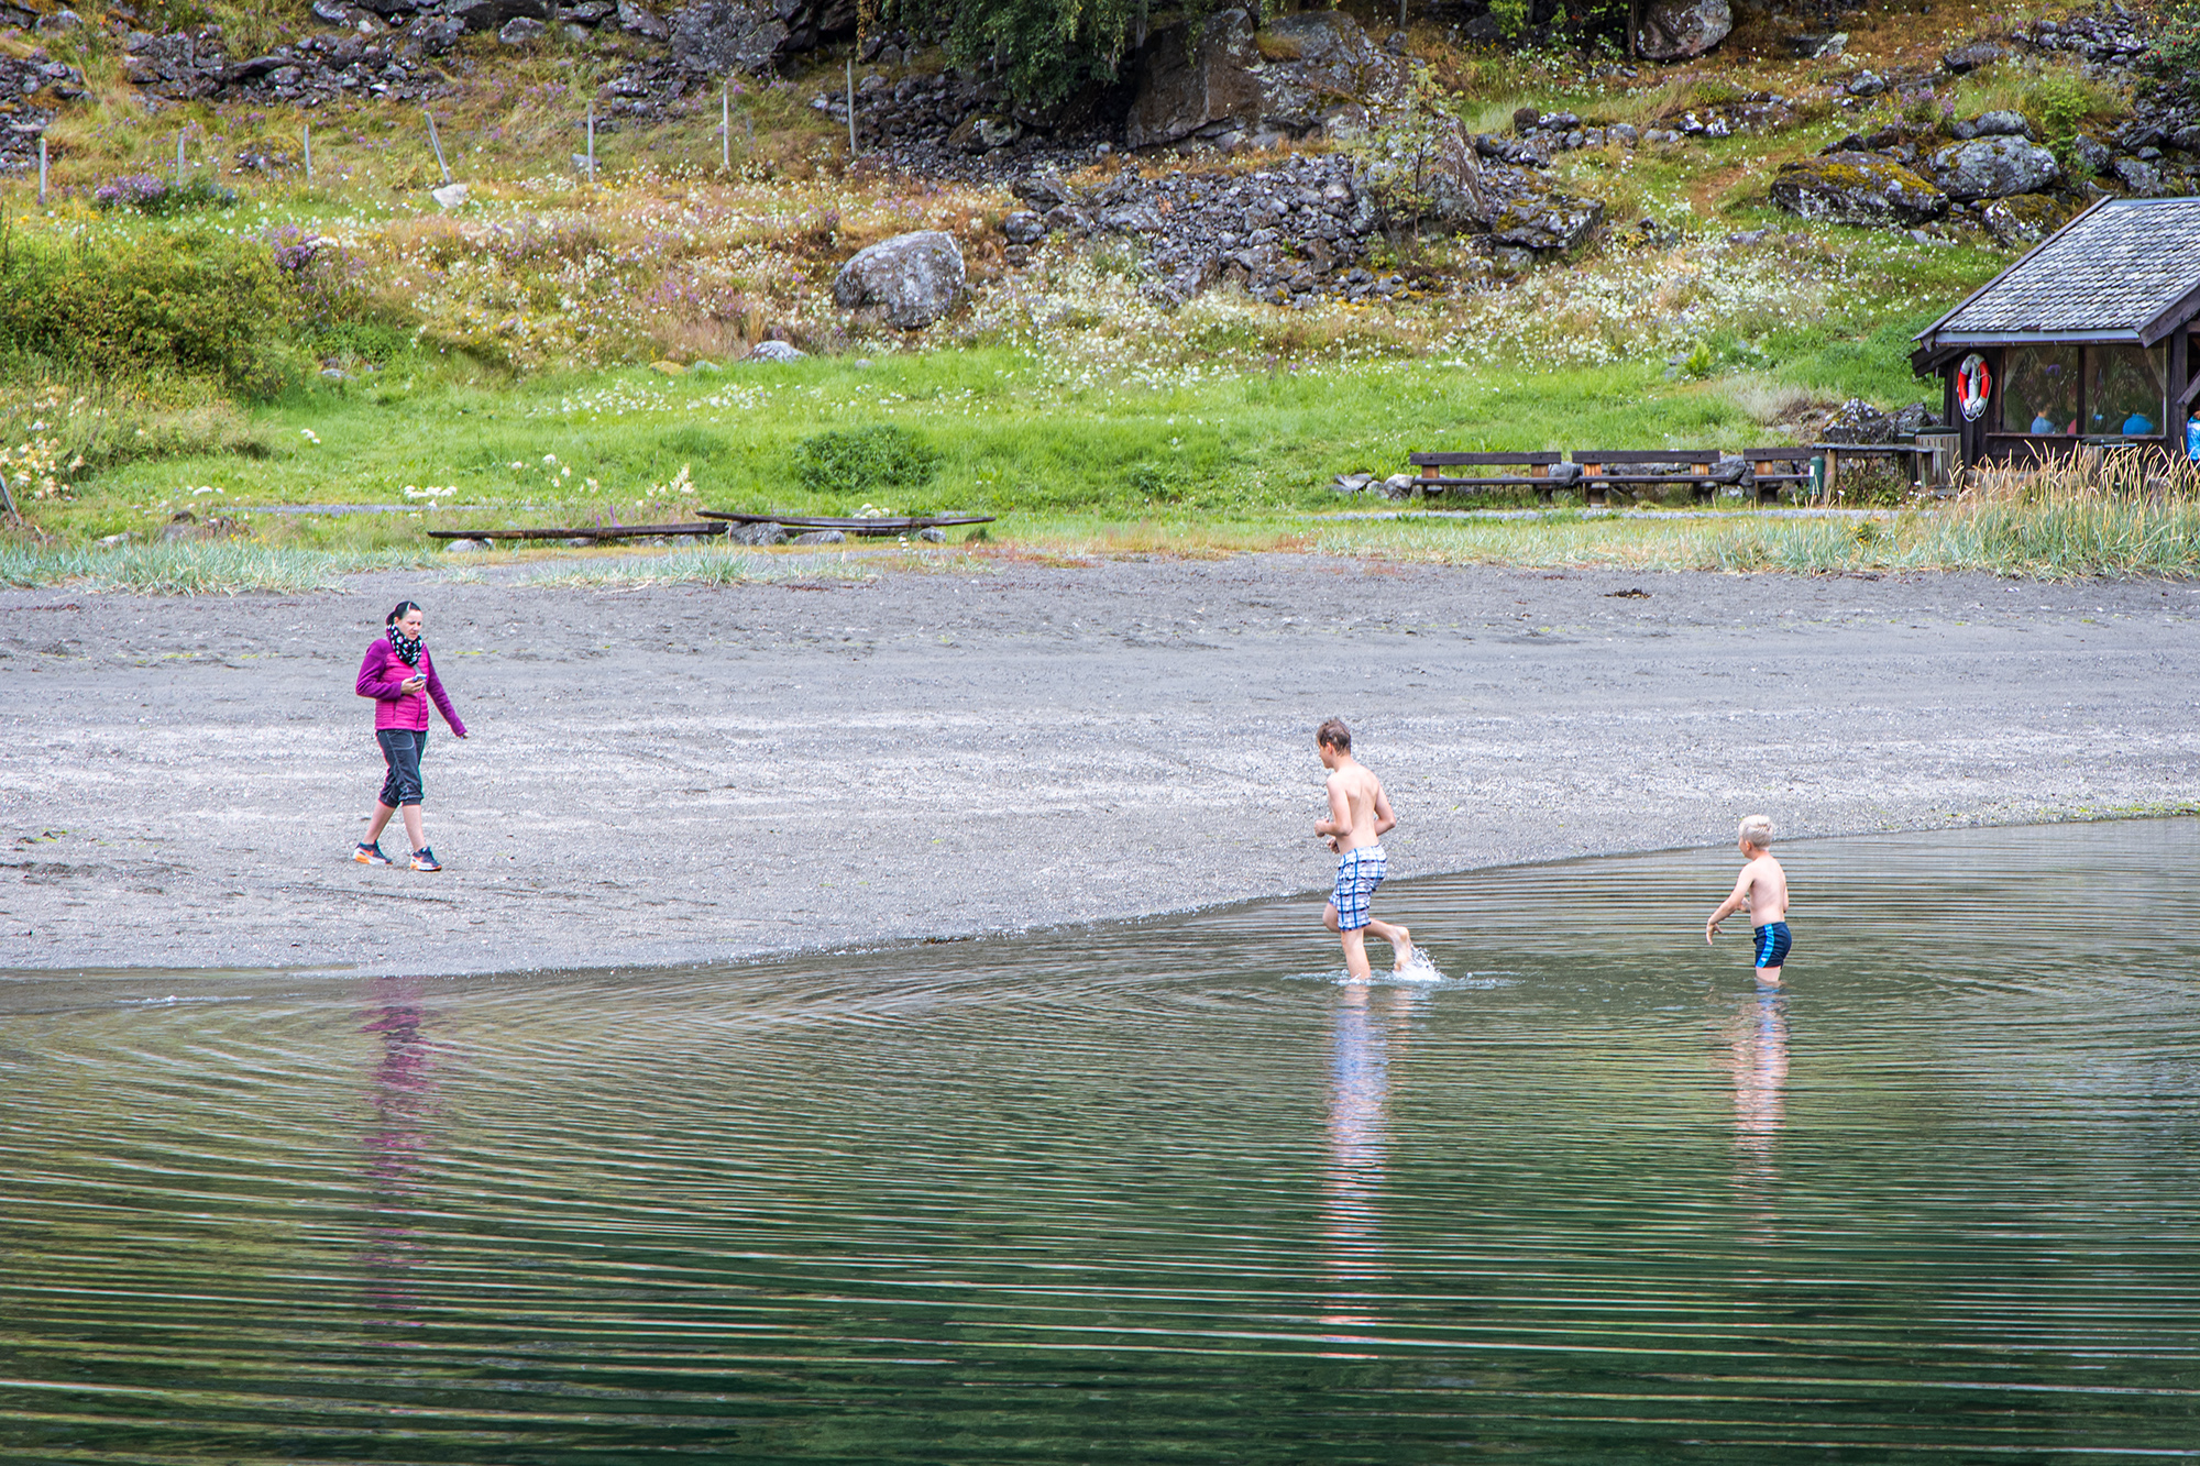
[[[1375,1193],[1382,1189],[1390,1131],[1390,1046],[1404,1043],[1419,993],[1390,988],[1379,1013],[1368,1013],[1368,988],[1346,984],[1329,1050],[1329,1162],[1322,1169],[1322,1239],[1327,1268],[1340,1283],[1382,1277]],[[1373,1327],[1364,1297],[1338,1292],[1322,1323]],[[1338,1336],[1351,1338],[1351,1336]]]

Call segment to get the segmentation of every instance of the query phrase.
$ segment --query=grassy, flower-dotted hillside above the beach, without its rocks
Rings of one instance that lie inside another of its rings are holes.
[[[238,53],[240,35],[308,29],[282,7],[207,13]],[[587,185],[570,158],[579,99],[634,42],[473,37],[431,99],[471,189],[447,211],[425,192],[440,174],[416,106],[147,114],[114,35],[90,26],[51,42],[90,99],[51,130],[48,207],[26,180],[4,185],[0,434],[31,522],[9,533],[145,537],[180,508],[352,502],[405,513],[240,526],[372,548],[418,544],[453,504],[535,524],[865,502],[1230,519],[1333,504],[1333,473],[1397,471],[1415,447],[1791,440],[1846,396],[1927,396],[1903,361],[1907,332],[2011,258],[1984,240],[1802,225],[1767,200],[1780,161],[1899,108],[1839,106],[1837,81],[1925,66],[1969,15],[1943,4],[1861,22],[1835,62],[1793,62],[1745,33],[1696,66],[1635,77],[1575,55],[1478,53],[1417,24],[1428,95],[1470,128],[1503,128],[1522,103],[1657,125],[1760,90],[1793,97],[1793,123],[1560,154],[1553,183],[1602,198],[1613,220],[1575,258],[1505,275],[1463,240],[1401,233],[1373,264],[1410,288],[1311,310],[1230,291],[1164,308],[1122,244],[1049,240],[1010,266],[1005,189],[849,158],[845,132],[805,106],[818,77],[735,99],[730,169],[711,97],[601,132]],[[838,55],[821,59],[838,73]],[[2121,106],[2061,62],[1940,81],[1962,114],[2048,92],[2061,125]],[[101,207],[117,178],[172,174],[178,132],[196,203]],[[829,302],[834,269],[913,227],[961,240],[968,306],[915,335],[854,328]],[[128,328],[86,326],[117,319]],[[763,337],[812,359],[728,365]],[[854,489],[801,478],[805,438],[876,423],[933,445],[937,471]]]

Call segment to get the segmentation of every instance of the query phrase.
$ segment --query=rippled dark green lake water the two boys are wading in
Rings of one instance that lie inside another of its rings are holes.
[[[4,1462],[2200,1455],[2200,823],[0,980]],[[1377,944],[1382,955],[1384,949]]]

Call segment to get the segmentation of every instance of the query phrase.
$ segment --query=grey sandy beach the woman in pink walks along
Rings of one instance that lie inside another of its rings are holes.
[[[381,779],[352,676],[398,597],[473,731],[431,737],[440,876],[345,858]],[[1393,790],[1395,876],[1720,845],[1751,808],[1786,836],[2178,808],[2196,610],[1309,557],[4,592],[0,969],[673,964],[1316,891],[1329,713]]]

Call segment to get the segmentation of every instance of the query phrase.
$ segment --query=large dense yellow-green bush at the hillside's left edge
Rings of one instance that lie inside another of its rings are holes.
[[[273,260],[220,233],[59,244],[0,231],[0,361],[264,396],[293,374],[293,319]]]

